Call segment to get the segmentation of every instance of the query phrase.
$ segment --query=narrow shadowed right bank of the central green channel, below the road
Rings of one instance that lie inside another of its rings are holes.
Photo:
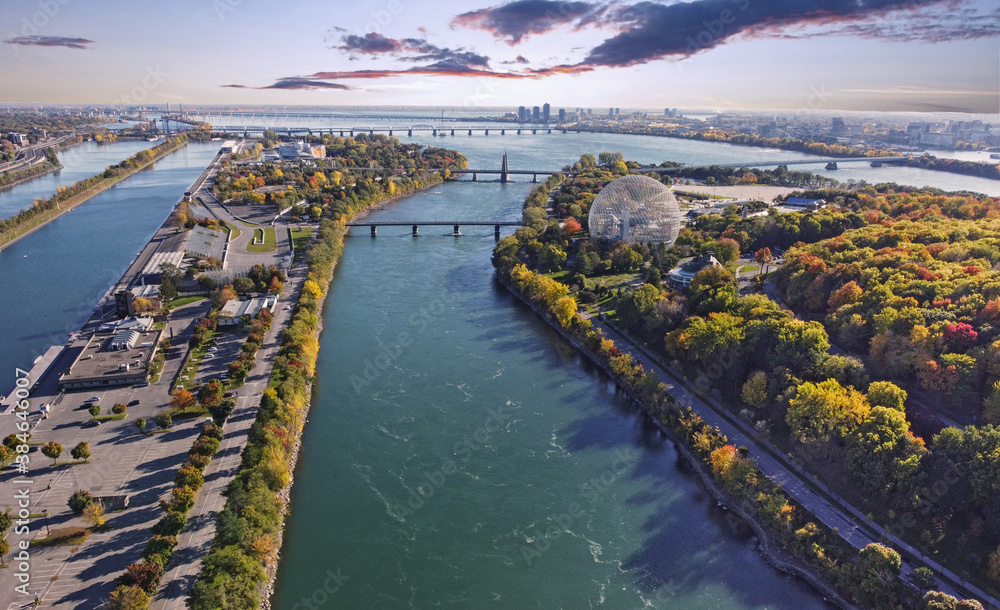
[[[538,317],[548,323],[549,326],[559,333],[563,339],[572,344],[573,347],[586,356],[587,359],[597,368],[601,369],[606,375],[608,375],[608,377],[615,380],[615,383],[623,390],[625,396],[640,411],[642,411],[642,413],[656,426],[658,430],[670,439],[678,453],[697,474],[699,481],[701,481],[702,486],[709,493],[709,495],[711,495],[716,502],[726,507],[727,510],[736,514],[754,531],[758,541],[758,552],[768,564],[780,572],[791,574],[808,582],[816,591],[820,592],[840,608],[854,610],[859,607],[844,599],[844,597],[840,595],[833,585],[824,580],[810,567],[803,565],[799,560],[785,553],[779,545],[775,544],[777,540],[775,540],[774,537],[767,532],[759,519],[746,511],[735,498],[731,497],[725,490],[722,489],[712,473],[707,470],[704,461],[695,456],[687,447],[684,440],[678,437],[678,435],[675,434],[670,427],[663,424],[660,418],[655,415],[655,411],[651,409],[650,405],[648,405],[642,397],[634,395],[626,390],[625,388],[628,387],[628,384],[624,379],[622,379],[621,375],[616,373],[612,367],[601,358],[596,357],[593,350],[591,350],[579,336],[568,331],[559,323],[558,320],[556,320],[539,304],[527,299],[523,294],[521,294],[520,291],[515,289],[509,281],[504,281],[500,277],[497,277],[497,282],[506,288],[507,291],[514,296],[514,298],[526,305],[533,312],[535,312]]]

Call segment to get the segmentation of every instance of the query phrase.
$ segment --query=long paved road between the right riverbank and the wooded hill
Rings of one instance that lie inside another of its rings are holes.
[[[988,604],[988,607],[1000,608],[1000,602],[996,599],[991,598],[971,583],[963,581],[932,559],[925,557],[919,550],[903,542],[878,524],[868,522],[861,511],[849,505],[846,500],[822,483],[809,481],[809,475],[800,466],[795,465],[790,456],[783,454],[774,445],[759,442],[750,435],[749,426],[745,422],[738,418],[731,419],[731,416],[725,413],[725,409],[714,403],[711,398],[701,398],[692,393],[680,380],[680,375],[676,371],[658,359],[652,358],[645,350],[636,347],[605,321],[594,317],[589,317],[589,319],[596,327],[601,328],[606,336],[615,341],[620,351],[632,354],[632,357],[642,363],[647,371],[655,371],[667,384],[670,394],[681,404],[690,406],[692,411],[700,415],[706,423],[718,426],[730,443],[748,447],[750,454],[756,459],[758,467],[765,476],[781,485],[796,502],[815,515],[824,525],[836,528],[840,537],[853,547],[861,549],[871,542],[887,539],[904,554],[908,553],[912,557],[920,558],[937,574],[943,575],[944,579],[939,578],[938,590],[959,599],[972,596],[984,604]],[[767,450],[764,449],[765,446],[767,446]],[[820,493],[820,490],[823,493]],[[911,574],[915,567],[917,566],[912,564],[910,560],[904,559],[904,577]]]

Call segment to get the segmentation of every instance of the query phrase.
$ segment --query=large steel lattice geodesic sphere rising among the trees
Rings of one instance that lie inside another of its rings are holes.
[[[590,206],[590,236],[625,243],[665,242],[681,231],[681,209],[669,188],[648,176],[626,176],[605,186]]]

